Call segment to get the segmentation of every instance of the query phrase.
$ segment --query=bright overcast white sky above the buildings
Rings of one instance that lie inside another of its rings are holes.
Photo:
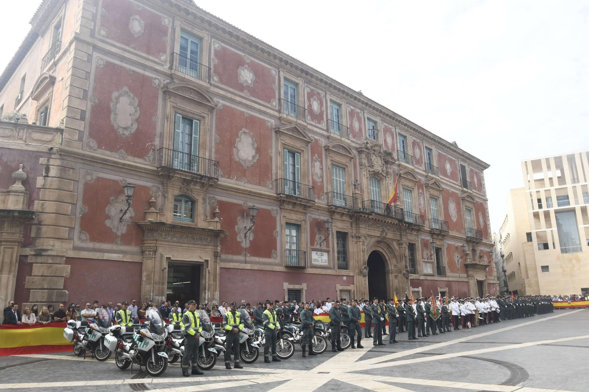
[[[38,4],[2,4],[0,68]],[[521,160],[589,148],[589,1],[196,4],[490,164],[493,231]]]

